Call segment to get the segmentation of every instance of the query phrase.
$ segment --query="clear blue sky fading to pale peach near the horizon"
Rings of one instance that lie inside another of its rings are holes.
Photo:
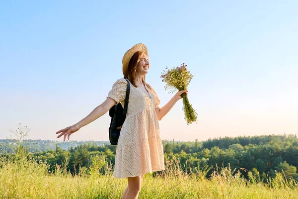
[[[183,3],[182,3],[183,2]],[[187,125],[182,100],[160,121],[163,139],[298,134],[298,1],[2,1],[0,139],[21,122],[28,139],[57,139],[122,78],[122,57],[149,49],[147,82],[161,106],[160,73],[195,75]],[[72,140],[108,140],[108,114]]]

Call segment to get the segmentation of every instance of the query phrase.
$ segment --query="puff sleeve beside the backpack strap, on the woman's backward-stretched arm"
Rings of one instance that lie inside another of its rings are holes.
[[[120,101],[124,101],[126,96],[126,88],[127,88],[127,82],[124,78],[117,80],[113,84],[113,87],[110,90],[107,98],[112,98],[117,102],[117,104]]]

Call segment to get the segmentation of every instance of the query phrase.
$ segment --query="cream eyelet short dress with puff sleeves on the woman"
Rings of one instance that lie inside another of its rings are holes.
[[[124,106],[127,82],[117,80],[107,98]],[[155,108],[160,100],[155,91],[130,84],[126,119],[122,125],[115,157],[115,178],[141,176],[164,170],[163,146]]]

